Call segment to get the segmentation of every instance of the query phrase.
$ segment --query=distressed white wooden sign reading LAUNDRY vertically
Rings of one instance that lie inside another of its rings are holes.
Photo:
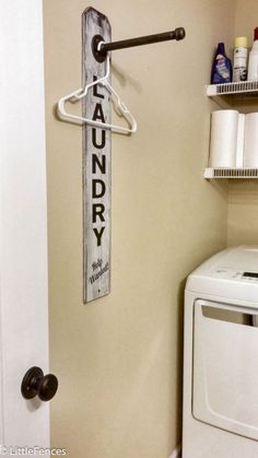
[[[106,60],[98,62],[92,52],[92,38],[101,35],[110,42],[106,16],[89,8],[82,15],[82,83],[106,74]],[[89,89],[82,102],[83,117],[110,124],[109,95],[104,86]],[[84,303],[110,292],[110,130],[83,125],[83,300]]]

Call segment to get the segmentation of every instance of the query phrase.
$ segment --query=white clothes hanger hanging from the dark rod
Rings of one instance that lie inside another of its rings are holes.
[[[99,45],[102,43],[103,42],[101,42]],[[102,129],[112,129],[113,131],[119,132],[119,133],[133,133],[137,131],[137,121],[133,118],[132,114],[129,111],[126,104],[121,101],[117,92],[108,83],[108,77],[110,74],[110,58],[108,54],[107,54],[106,62],[107,62],[106,74],[104,77],[99,78],[96,81],[93,81],[92,83],[86,84],[84,89],[79,89],[72,92],[71,94],[68,94],[64,97],[61,97],[59,99],[58,105],[57,105],[58,115],[61,119],[64,119],[64,120],[75,119],[82,122],[86,122],[90,126],[99,127]],[[120,116],[122,116],[127,120],[127,122],[129,124],[129,128],[122,127],[122,126],[116,126],[112,124],[106,124],[102,121],[96,121],[90,118],[84,118],[83,116],[79,116],[79,115],[72,115],[66,110],[67,102],[74,103],[77,101],[81,101],[83,97],[86,96],[89,89],[93,87],[96,84],[101,84],[107,90],[107,92],[109,92],[109,94],[113,97],[113,102],[115,104],[115,109],[118,111]]]

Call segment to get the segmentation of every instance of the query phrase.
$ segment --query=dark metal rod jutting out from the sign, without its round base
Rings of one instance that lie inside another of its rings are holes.
[[[141,36],[138,38],[122,39],[114,43],[103,43],[99,52],[106,54],[116,49],[131,48],[132,46],[151,45],[152,43],[166,42],[168,39],[184,39],[186,31],[184,27],[178,27],[175,31],[164,32],[155,35]]]

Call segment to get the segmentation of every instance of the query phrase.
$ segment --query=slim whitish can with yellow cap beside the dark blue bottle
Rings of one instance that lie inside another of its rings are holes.
[[[238,36],[234,46],[233,81],[247,80],[248,40],[246,36]]]

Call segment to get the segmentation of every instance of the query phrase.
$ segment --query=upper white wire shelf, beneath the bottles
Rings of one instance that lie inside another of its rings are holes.
[[[238,83],[208,84],[207,95],[251,95],[258,96],[258,81],[243,81]]]

